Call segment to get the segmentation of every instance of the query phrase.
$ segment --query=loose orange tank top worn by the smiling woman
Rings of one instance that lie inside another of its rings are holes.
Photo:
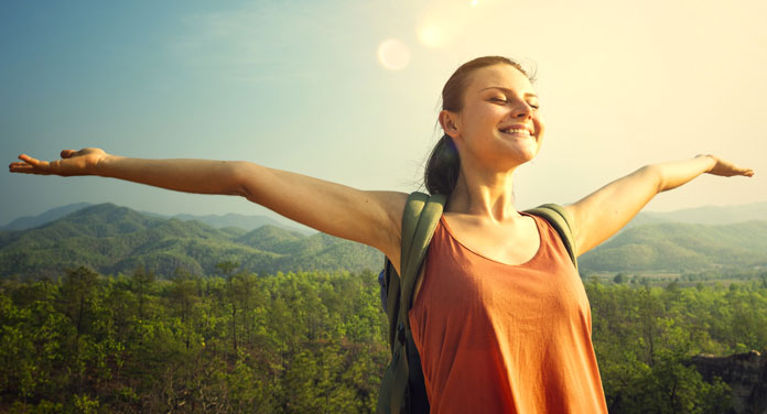
[[[520,265],[471,251],[440,219],[409,314],[433,413],[607,413],[583,283],[532,217],[541,243]]]

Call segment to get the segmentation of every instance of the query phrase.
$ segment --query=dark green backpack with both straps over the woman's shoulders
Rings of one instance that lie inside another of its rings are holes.
[[[413,342],[408,312],[412,306],[415,282],[423,272],[421,264],[445,201],[446,197],[442,194],[410,194],[402,215],[402,277],[388,259],[384,261],[384,270],[378,275],[381,306],[389,319],[388,339],[391,351],[391,361],[378,392],[378,413],[429,413],[421,357]],[[554,204],[545,204],[525,213],[545,219],[557,230],[577,270],[575,241],[564,209]]]

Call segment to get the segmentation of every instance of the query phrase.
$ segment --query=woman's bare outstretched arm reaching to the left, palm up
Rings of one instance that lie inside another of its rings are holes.
[[[12,173],[97,175],[185,193],[238,195],[320,231],[382,251],[399,269],[407,195],[366,192],[241,161],[142,160],[99,149],[62,151],[46,162],[20,155]]]

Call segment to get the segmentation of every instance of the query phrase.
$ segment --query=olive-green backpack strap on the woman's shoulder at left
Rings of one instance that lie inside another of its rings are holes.
[[[418,350],[412,342],[410,331],[410,319],[408,312],[412,307],[413,290],[418,276],[422,271],[423,259],[429,250],[436,225],[442,217],[446,197],[441,194],[429,196],[423,193],[412,193],[408,197],[402,215],[402,251],[400,255],[400,277],[399,295],[397,299],[389,297],[389,344],[392,351],[392,361],[381,382],[381,393],[379,394],[379,413],[400,413],[404,407],[406,399],[409,397],[411,410],[413,406],[428,406],[425,400],[425,389],[418,392],[422,401],[414,401],[415,395],[407,396],[407,388],[411,379],[410,363],[420,366]],[[397,284],[397,281],[390,281]],[[395,286],[391,286],[395,287]],[[391,295],[395,290],[389,290]],[[391,306],[395,305],[395,306]],[[412,349],[410,349],[412,347]],[[420,368],[420,367],[419,367]],[[419,370],[420,371],[420,370]],[[422,375],[422,373],[420,373]],[[385,390],[385,382],[390,383],[390,388]],[[419,380],[421,383],[423,380]],[[413,390],[411,390],[412,393]],[[381,400],[384,399],[384,401]],[[415,408],[418,410],[418,408]]]

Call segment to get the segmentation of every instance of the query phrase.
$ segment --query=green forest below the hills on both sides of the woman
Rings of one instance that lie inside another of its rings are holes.
[[[0,282],[0,412],[374,412],[386,316],[366,272],[143,268]],[[698,353],[767,350],[767,285],[586,283],[614,413],[721,413]],[[764,276],[764,275],[763,275]]]

